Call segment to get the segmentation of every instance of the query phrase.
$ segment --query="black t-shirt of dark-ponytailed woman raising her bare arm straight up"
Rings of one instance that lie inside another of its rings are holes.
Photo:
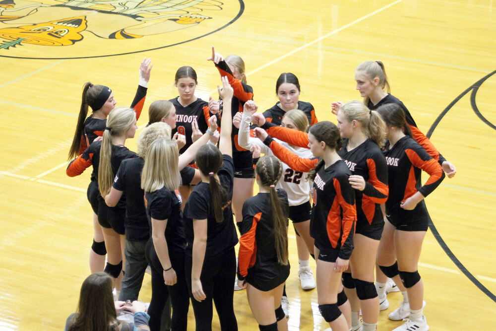
[[[227,192],[227,201],[223,201],[224,220],[217,223],[212,208],[210,186],[207,183],[199,183],[189,196],[185,206],[185,229],[186,229],[186,255],[192,256],[193,249],[193,219],[207,219],[207,247],[205,260],[215,258],[232,249],[238,243],[238,235],[234,226],[231,200],[233,198],[234,164],[233,158],[223,155],[223,164],[217,175],[224,190]]]

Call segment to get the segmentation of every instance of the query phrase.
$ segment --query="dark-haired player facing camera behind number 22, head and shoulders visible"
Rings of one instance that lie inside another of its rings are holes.
[[[311,103],[300,101],[300,82],[295,74],[283,72],[279,75],[276,81],[276,94],[279,102],[263,112],[267,121],[281,125],[285,112],[300,109],[307,115],[310,125],[318,122]]]

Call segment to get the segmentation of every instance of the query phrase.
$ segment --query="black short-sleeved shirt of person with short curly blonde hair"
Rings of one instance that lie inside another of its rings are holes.
[[[124,226],[126,239],[130,241],[148,240],[149,238],[150,228],[143,203],[145,192],[141,189],[141,171],[144,164],[145,160],[141,157],[124,160],[112,185],[126,195]]]

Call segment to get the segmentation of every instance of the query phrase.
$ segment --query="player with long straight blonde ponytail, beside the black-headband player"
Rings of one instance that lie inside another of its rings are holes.
[[[98,222],[102,226],[107,249],[107,265],[105,271],[115,278],[115,287],[121,290],[123,277],[123,259],[125,245],[125,200],[115,207],[108,207],[103,197],[107,196],[112,187],[121,162],[138,155],[124,146],[127,138],[133,138],[137,130],[136,113],[130,108],[116,108],[107,119],[107,127],[101,141],[93,143],[66,170],[73,177],[83,173],[93,165],[92,176],[98,181],[100,195],[98,196]]]

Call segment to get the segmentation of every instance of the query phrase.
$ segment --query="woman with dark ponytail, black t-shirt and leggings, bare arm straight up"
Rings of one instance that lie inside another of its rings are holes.
[[[198,331],[212,329],[212,299],[221,330],[238,330],[233,307],[234,246],[238,243],[231,209],[234,165],[229,112],[233,89],[227,77],[222,77],[222,85],[222,90],[218,88],[224,104],[219,148],[207,144],[196,153],[202,181],[185,207],[186,281]]]

